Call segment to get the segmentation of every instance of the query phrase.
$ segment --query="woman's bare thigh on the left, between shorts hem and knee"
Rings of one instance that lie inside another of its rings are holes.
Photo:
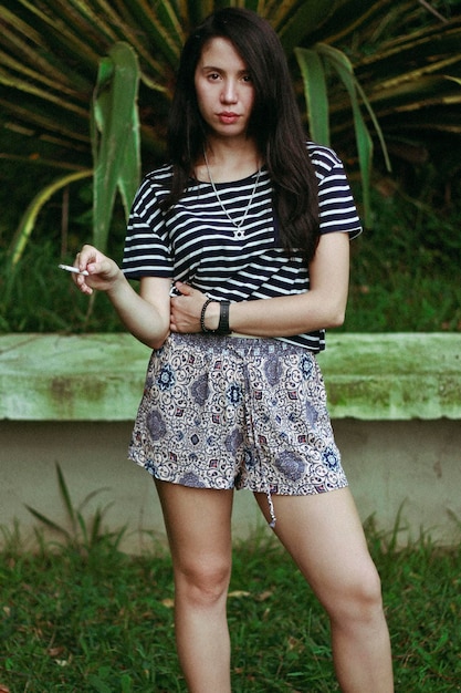
[[[156,480],[176,569],[212,571],[231,561],[232,490]]]

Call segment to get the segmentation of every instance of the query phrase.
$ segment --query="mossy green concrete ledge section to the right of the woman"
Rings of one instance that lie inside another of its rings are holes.
[[[319,363],[335,418],[461,418],[459,334],[331,334]]]

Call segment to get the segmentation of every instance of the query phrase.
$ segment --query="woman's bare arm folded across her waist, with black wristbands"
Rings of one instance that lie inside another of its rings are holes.
[[[232,303],[229,321],[232,331],[255,337],[289,337],[340,325],[349,282],[347,234],[321,237],[310,277],[311,288],[305,293]],[[171,330],[198,332],[206,297],[185,285],[179,285],[179,290],[184,296],[171,300]],[[206,325],[216,329],[218,321],[219,304],[213,302],[207,308]]]

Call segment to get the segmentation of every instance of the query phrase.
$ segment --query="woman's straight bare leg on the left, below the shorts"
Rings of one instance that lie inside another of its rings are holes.
[[[227,593],[233,492],[156,482],[175,572],[179,662],[190,693],[230,693]]]

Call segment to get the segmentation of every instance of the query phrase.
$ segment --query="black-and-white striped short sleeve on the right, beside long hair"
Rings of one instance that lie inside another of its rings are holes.
[[[319,232],[342,231],[356,238],[362,224],[342,161],[318,145],[311,145],[310,154],[318,179]]]

